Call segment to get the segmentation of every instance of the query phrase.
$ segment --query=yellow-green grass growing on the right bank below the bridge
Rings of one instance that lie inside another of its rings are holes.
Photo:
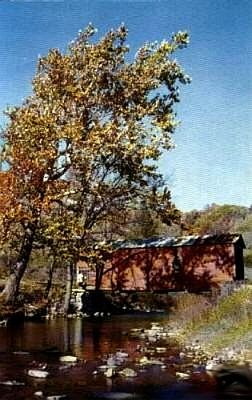
[[[252,344],[252,287],[246,286],[217,304],[201,295],[184,294],[172,318],[185,339],[197,338],[212,353],[239,344]]]

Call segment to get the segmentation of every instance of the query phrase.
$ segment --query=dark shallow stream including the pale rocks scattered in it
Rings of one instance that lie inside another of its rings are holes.
[[[212,400],[212,377],[179,349],[166,320],[131,315],[2,327],[0,398],[156,400],[186,392]]]

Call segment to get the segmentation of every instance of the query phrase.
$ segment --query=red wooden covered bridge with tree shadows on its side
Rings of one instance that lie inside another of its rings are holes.
[[[244,279],[239,234],[162,237],[117,241],[101,289],[193,292]],[[94,274],[86,269],[87,284]]]

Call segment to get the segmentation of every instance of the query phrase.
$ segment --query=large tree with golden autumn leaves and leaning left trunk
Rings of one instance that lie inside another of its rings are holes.
[[[124,26],[98,42],[94,32],[90,25],[65,53],[41,58],[33,94],[8,111],[3,159],[13,179],[4,223],[19,226],[20,248],[7,302],[41,229],[49,241],[73,240],[74,263],[97,223],[163,183],[157,161],[172,147],[178,83],[189,81],[172,56],[188,35],[145,44],[129,62]]]

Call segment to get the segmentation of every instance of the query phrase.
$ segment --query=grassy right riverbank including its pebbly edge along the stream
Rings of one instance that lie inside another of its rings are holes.
[[[177,298],[170,326],[184,349],[204,359],[207,368],[222,363],[252,367],[252,286],[217,299],[184,294]]]

